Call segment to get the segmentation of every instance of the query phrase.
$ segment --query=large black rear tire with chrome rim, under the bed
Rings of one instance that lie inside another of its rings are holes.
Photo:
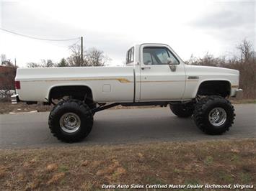
[[[61,101],[50,111],[49,128],[53,136],[64,142],[83,140],[93,125],[91,109],[82,101]]]

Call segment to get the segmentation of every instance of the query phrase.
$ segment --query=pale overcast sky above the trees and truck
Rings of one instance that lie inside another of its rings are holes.
[[[0,30],[0,54],[19,67],[28,62],[53,60],[71,54],[69,46],[96,47],[111,58],[108,65],[123,65],[132,45],[142,42],[170,45],[182,60],[231,56],[242,39],[255,47],[255,1],[7,1],[0,0],[0,27],[52,42],[20,37]]]

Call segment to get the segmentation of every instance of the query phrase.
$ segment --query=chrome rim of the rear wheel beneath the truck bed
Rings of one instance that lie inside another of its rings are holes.
[[[60,126],[66,133],[74,133],[81,126],[81,120],[76,113],[64,113],[60,118]]]

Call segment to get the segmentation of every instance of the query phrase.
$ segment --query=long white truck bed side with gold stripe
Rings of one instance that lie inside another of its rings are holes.
[[[133,67],[38,67],[17,69],[21,101],[47,101],[62,85],[86,85],[97,102],[129,102],[134,98]]]

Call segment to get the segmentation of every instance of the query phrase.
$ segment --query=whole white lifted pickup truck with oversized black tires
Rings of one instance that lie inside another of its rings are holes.
[[[241,90],[239,71],[186,65],[164,44],[131,47],[125,67],[18,69],[15,85],[13,103],[55,105],[50,131],[66,142],[84,139],[92,130],[94,113],[118,105],[169,105],[176,116],[193,115],[206,134],[222,134],[235,116],[226,98]]]

